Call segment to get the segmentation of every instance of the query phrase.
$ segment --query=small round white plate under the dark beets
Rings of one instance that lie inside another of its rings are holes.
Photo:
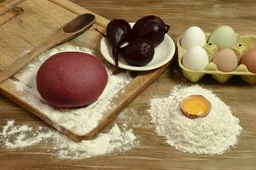
[[[131,23],[133,26],[133,23]],[[102,37],[101,41],[101,52],[103,57],[112,65],[114,65],[114,60],[112,57],[112,48],[108,43],[107,38]],[[175,53],[175,44],[169,35],[165,35],[164,41],[154,48],[154,58],[144,66],[132,66],[125,62],[121,56],[119,56],[119,68],[130,70],[130,71],[150,71],[159,68],[169,62]]]

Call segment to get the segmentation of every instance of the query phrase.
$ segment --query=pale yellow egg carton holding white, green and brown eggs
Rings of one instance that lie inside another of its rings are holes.
[[[223,72],[218,71],[217,65],[212,62],[212,58],[218,53],[218,47],[211,42],[208,42],[211,33],[205,33],[207,37],[207,44],[203,47],[208,54],[210,63],[207,65],[204,71],[192,71],[184,67],[182,64],[183,55],[186,53],[186,49],[181,46],[182,36],[177,37],[177,51],[178,51],[178,65],[182,68],[183,76],[189,79],[190,82],[198,82],[206,74],[212,75],[212,77],[218,82],[224,83],[230,80],[234,75],[240,76],[242,80],[249,84],[256,83],[256,74],[248,71],[246,65],[238,65],[236,71]],[[247,50],[256,47],[256,36],[237,36],[236,44],[232,47],[233,51],[236,53],[238,60],[241,56],[247,52]]]

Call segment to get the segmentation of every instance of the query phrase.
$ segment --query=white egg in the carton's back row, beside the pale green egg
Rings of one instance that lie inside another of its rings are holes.
[[[204,46],[207,43],[207,38],[204,31],[198,26],[192,26],[184,32],[181,45],[185,49],[194,48],[196,46]]]

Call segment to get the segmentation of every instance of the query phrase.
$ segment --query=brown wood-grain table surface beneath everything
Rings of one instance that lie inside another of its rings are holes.
[[[42,0],[43,1],[43,0]],[[256,1],[142,1],[142,0],[72,0],[96,14],[108,18],[122,18],[129,21],[155,14],[170,24],[169,34],[175,40],[189,26],[200,26],[204,31],[212,31],[220,25],[232,26],[240,34],[256,34]],[[177,57],[177,56],[175,56]],[[236,149],[218,156],[196,156],[185,154],[165,143],[154,133],[154,125],[146,112],[151,97],[169,94],[175,84],[185,83],[181,71],[173,71],[177,61],[156,82],[151,84],[137,99],[133,100],[121,114],[127,119],[140,145],[118,155],[98,156],[84,160],[61,160],[45,152],[40,144],[29,150],[0,149],[0,169],[256,169],[256,88],[247,85],[240,78],[233,77],[226,84],[219,84],[211,77],[205,77],[199,84],[212,91],[241,120],[244,131]],[[132,113],[132,110],[135,113]],[[10,118],[17,123],[32,126],[47,126],[28,111],[0,96],[0,123]],[[245,116],[246,115],[246,116]],[[121,119],[117,118],[121,126]],[[142,126],[135,126],[141,123]],[[108,131],[106,127],[105,131]]]

